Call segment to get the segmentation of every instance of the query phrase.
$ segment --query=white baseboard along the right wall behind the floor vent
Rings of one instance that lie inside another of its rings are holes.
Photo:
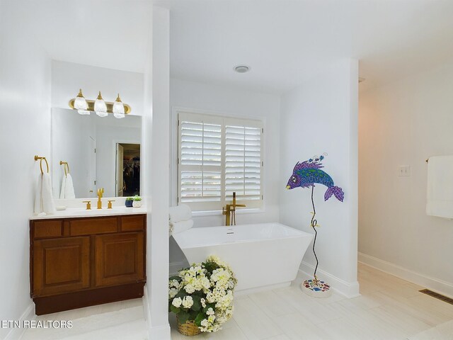
[[[437,293],[442,295],[447,295],[453,297],[453,284],[438,278],[430,278],[421,273],[415,273],[407,268],[403,268],[394,263],[390,263],[377,257],[369,256],[367,254],[358,253],[358,260],[360,263],[364,263],[367,266],[377,268],[379,271],[384,271],[403,280],[410,281],[416,285],[421,285],[422,287],[434,290]]]

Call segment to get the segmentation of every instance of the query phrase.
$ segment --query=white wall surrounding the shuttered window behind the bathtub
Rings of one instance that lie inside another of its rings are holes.
[[[241,75],[239,75],[241,77]],[[238,224],[253,222],[277,222],[279,219],[278,187],[279,183],[279,152],[280,152],[280,96],[261,94],[229,86],[213,86],[194,81],[171,79],[171,108],[188,108],[206,113],[238,116],[241,118],[260,119],[264,122],[264,174],[263,211],[253,214],[237,212]],[[174,112],[171,123],[171,205],[176,205],[178,191],[177,147],[178,120]],[[224,216],[217,213],[210,216],[194,217],[194,227],[224,225]],[[180,266],[185,261],[183,253],[173,238],[171,239],[171,263]]]

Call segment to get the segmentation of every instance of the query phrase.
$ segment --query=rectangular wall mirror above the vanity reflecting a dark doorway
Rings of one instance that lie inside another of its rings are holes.
[[[139,115],[101,118],[52,108],[54,197],[94,198],[98,188],[104,197],[140,195],[141,141]]]

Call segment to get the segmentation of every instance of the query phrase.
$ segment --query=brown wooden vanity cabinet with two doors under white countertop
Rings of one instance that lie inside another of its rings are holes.
[[[30,220],[38,315],[143,296],[146,215]]]

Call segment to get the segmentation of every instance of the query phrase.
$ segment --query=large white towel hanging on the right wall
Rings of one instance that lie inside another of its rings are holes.
[[[430,157],[426,214],[453,218],[453,156]]]

